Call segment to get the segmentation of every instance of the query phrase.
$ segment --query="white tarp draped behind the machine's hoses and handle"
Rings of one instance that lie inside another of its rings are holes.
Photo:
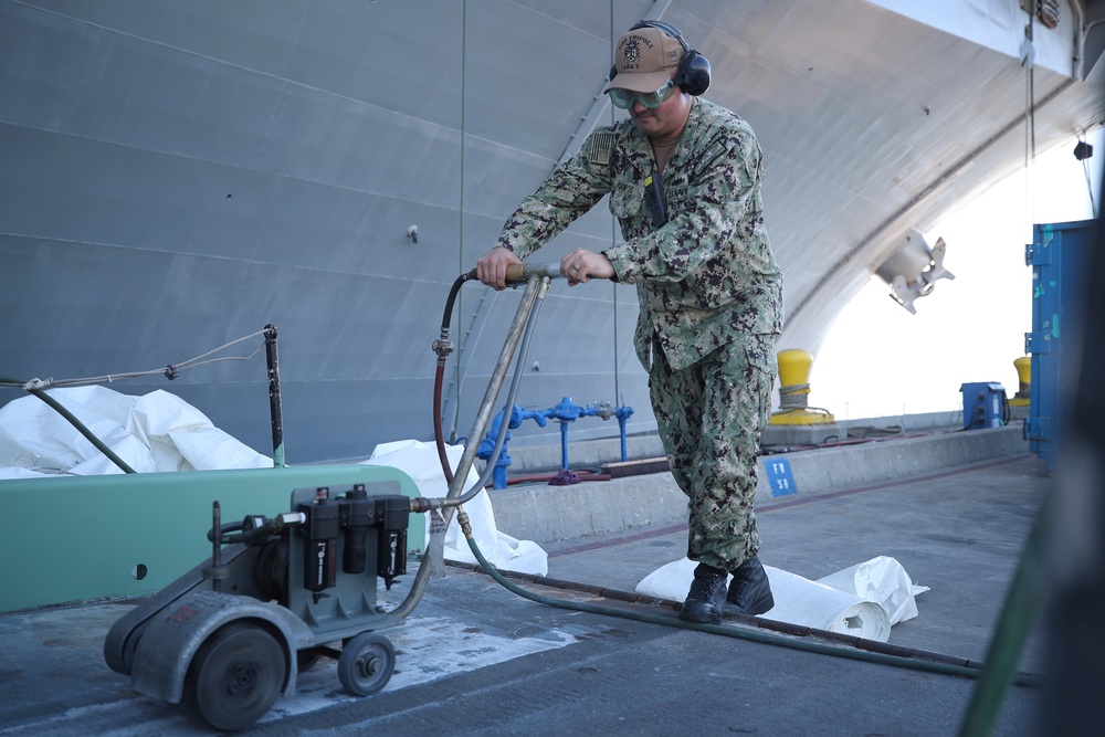
[[[451,467],[455,468],[464,453],[462,445],[446,445],[445,455]],[[449,492],[445,473],[441,470],[438,448],[433,443],[422,443],[417,440],[402,440],[393,443],[382,443],[372,451],[372,456],[362,463],[399,468],[418,484],[419,493],[431,498],[444,497]],[[475,468],[469,470],[464,484],[467,491],[480,480]],[[513,570],[519,573],[548,575],[548,554],[536,543],[517,540],[501,533],[495,525],[495,512],[491,506],[487,492],[481,489],[472,501],[464,504],[464,510],[472,520],[472,534],[476,546],[487,562],[502,570]],[[427,515],[427,539],[430,539],[430,515]],[[475,556],[469,549],[467,540],[460,531],[456,517],[449,524],[445,531],[445,558],[461,562],[476,562]]]

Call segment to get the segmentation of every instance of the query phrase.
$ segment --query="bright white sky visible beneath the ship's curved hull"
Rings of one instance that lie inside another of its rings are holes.
[[[827,409],[838,420],[956,411],[962,409],[960,386],[974,381],[997,381],[1012,397],[1018,389],[1013,360],[1024,355],[1024,334],[1032,329],[1025,212],[1031,210],[1036,223],[1094,217],[1086,171],[1073,154],[1076,143],[1072,138],[1038,155],[1031,193],[1024,172],[1018,172],[925,234],[929,244],[944,238],[944,265],[956,278],[936,282],[932,294],[914,303],[916,315],[872,276],[817,356],[810,407]],[[1103,131],[1090,134],[1087,143],[1094,147],[1087,164],[1097,198]]]

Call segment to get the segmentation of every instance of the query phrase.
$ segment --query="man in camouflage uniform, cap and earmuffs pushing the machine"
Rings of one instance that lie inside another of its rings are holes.
[[[762,155],[747,123],[696,96],[709,64],[674,28],[639,23],[619,40],[615,60],[606,92],[630,119],[598,128],[523,201],[477,275],[504,288],[508,264],[610,194],[624,242],[577,249],[560,269],[570,285],[636,285],[633,343],[672,474],[690,499],[687,556],[698,561],[680,617],[717,623],[726,603],[759,614],[774,599],[757,558],[756,454],[782,327]]]

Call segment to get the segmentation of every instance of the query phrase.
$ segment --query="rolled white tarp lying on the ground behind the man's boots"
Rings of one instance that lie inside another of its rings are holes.
[[[662,566],[636,586],[640,593],[682,601],[697,564],[687,558]],[[852,634],[886,642],[891,627],[917,615],[915,596],[928,591],[914,586],[894,558],[878,556],[811,581],[764,566],[771,582],[775,607],[765,619]]]

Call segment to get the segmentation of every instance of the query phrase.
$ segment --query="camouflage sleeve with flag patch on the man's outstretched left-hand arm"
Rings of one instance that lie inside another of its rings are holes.
[[[607,139],[611,135],[609,129],[599,128],[588,136],[575,156],[522,201],[506,220],[495,245],[525,259],[594,207],[610,191]]]

